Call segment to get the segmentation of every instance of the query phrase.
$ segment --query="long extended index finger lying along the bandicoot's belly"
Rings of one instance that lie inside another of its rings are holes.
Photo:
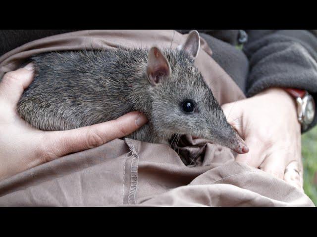
[[[137,111],[115,120],[67,131],[46,132],[45,145],[53,158],[103,145],[115,138],[127,136],[147,122]]]

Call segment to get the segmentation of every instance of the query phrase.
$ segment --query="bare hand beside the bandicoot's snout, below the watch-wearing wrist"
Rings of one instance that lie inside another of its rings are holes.
[[[301,125],[294,99],[283,89],[270,88],[222,109],[250,149],[238,154],[236,161],[302,189]]]

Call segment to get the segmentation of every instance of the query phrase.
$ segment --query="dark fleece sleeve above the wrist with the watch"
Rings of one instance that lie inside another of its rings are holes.
[[[317,102],[317,37],[313,31],[247,32],[249,40],[243,48],[250,63],[247,96],[269,87],[291,87],[307,90]],[[317,116],[305,131],[316,123]]]

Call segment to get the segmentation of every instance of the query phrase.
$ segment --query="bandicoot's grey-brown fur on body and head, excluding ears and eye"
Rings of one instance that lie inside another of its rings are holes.
[[[181,49],[161,52],[171,72],[155,85],[147,73],[149,49],[36,55],[35,78],[18,103],[18,113],[38,129],[67,130],[138,110],[149,122],[130,138],[159,143],[176,133],[192,134],[241,151],[241,139],[195,68],[194,58]],[[182,111],[185,99],[194,101],[194,113]]]

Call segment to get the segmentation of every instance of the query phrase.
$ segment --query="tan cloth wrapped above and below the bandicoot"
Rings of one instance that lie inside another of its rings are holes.
[[[72,32],[35,40],[0,57],[0,78],[33,54],[125,47],[176,48],[186,36],[172,30]],[[220,104],[244,98],[202,40],[197,68]],[[300,190],[234,162],[233,153],[183,136],[177,152],[163,144],[115,139],[0,182],[0,206],[314,206]]]

